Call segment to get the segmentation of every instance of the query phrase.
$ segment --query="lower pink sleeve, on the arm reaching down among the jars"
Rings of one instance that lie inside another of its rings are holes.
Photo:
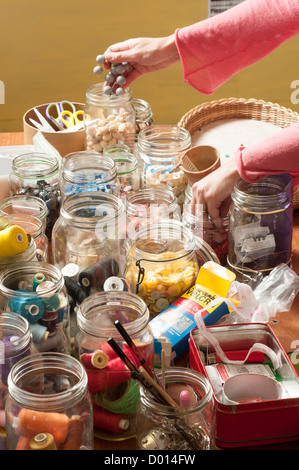
[[[245,181],[256,182],[263,176],[290,173],[299,177],[299,123],[277,132],[262,143],[238,150],[238,172]]]

